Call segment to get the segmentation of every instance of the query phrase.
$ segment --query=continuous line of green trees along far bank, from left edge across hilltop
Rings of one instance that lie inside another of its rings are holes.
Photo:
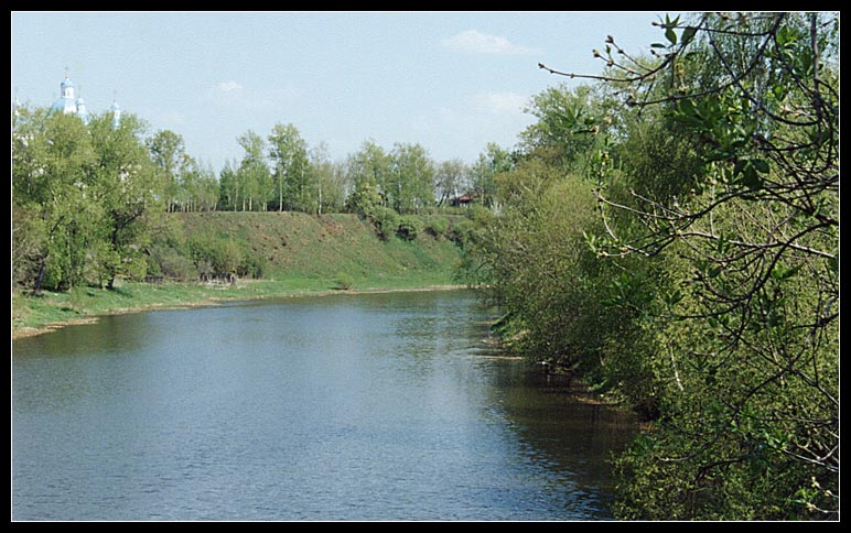
[[[267,137],[249,130],[237,142],[241,157],[216,175],[186,152],[179,133],[149,134],[132,113],[115,127],[108,112],[84,123],[45,108],[17,107],[13,284],[36,293],[83,284],[111,289],[119,276],[159,272],[150,264],[151,242],[171,224],[163,213],[356,213],[383,238],[414,238],[421,226],[414,215],[449,211],[462,194],[492,205],[493,177],[508,157],[488,144],[472,165],[457,159],[438,163],[420,144],[385,150],[367,140],[344,161],[333,161],[324,143],[309,146],[291,123],[276,124]],[[250,258],[235,261],[226,263],[254,264]]]

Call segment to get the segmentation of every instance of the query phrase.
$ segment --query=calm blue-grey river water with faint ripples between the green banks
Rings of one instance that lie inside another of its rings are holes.
[[[631,420],[495,357],[467,291],[13,342],[13,520],[605,520]]]

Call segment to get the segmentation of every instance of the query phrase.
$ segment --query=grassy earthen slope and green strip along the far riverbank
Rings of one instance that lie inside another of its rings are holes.
[[[424,219],[424,226],[429,225]],[[125,281],[115,291],[74,287],[39,297],[15,292],[12,335],[28,335],[93,316],[325,291],[377,291],[451,285],[461,250],[446,236],[421,231],[413,240],[379,239],[355,215],[302,213],[171,214],[153,248],[183,264],[187,280]],[[202,283],[188,259],[193,242],[227,243],[260,263],[262,278]]]

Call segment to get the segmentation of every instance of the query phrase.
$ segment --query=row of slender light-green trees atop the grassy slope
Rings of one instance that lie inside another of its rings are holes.
[[[491,205],[493,176],[509,156],[489,143],[467,165],[460,159],[435,162],[419,143],[386,150],[366,140],[343,161],[332,161],[324,143],[310,148],[293,124],[278,123],[262,135],[238,138],[244,154],[219,174],[217,207],[223,210],[366,213],[375,207],[399,215],[448,207],[463,194]]]

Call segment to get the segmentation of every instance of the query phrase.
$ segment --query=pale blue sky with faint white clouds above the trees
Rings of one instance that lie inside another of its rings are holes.
[[[65,74],[90,112],[114,98],[149,134],[172,130],[218,172],[237,138],[292,123],[342,160],[371,140],[435,162],[513,148],[529,99],[600,74],[606,35],[631,52],[664,40],[651,11],[11,13],[12,98],[50,107]],[[670,13],[674,18],[677,13]]]

